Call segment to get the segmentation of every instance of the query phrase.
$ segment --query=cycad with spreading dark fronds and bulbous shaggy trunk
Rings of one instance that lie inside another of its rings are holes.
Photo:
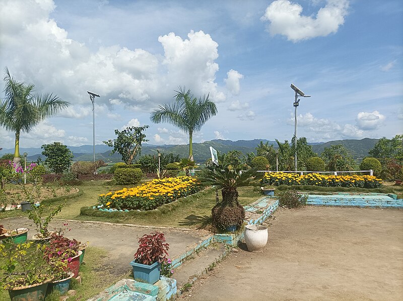
[[[222,231],[235,231],[245,219],[245,210],[238,202],[237,187],[247,186],[256,176],[255,169],[241,172],[227,167],[207,167],[198,177],[202,185],[214,185],[221,189],[223,199],[212,209],[213,224]]]

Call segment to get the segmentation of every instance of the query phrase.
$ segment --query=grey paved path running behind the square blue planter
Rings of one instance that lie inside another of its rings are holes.
[[[0,220],[6,229],[29,228],[28,238],[35,234],[35,224],[25,217],[12,217]],[[107,222],[90,221],[63,221],[53,220],[51,227],[62,228],[63,222],[68,223],[71,231],[65,236],[70,239],[75,238],[81,242],[89,242],[90,246],[101,247],[108,250],[107,266],[113,267],[111,272],[123,274],[130,269],[129,262],[133,260],[139,247],[138,238],[153,231],[160,231],[165,234],[169,244],[169,256],[172,258],[181,255],[187,247],[196,244],[203,239],[204,233],[180,230],[172,228],[135,227],[133,225],[123,225]]]

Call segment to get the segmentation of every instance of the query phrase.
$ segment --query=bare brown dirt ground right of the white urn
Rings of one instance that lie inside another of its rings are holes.
[[[262,253],[237,253],[184,300],[403,300],[403,210],[280,209]]]

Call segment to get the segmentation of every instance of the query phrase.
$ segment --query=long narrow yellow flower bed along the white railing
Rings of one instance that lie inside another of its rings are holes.
[[[262,184],[266,185],[315,185],[322,187],[360,187],[379,188],[382,180],[375,176],[348,175],[334,176],[321,175],[317,173],[298,175],[296,173],[265,173]]]

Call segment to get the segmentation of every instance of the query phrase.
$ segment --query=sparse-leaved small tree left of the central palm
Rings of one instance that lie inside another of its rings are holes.
[[[147,142],[146,134],[143,133],[149,126],[130,126],[119,131],[115,129],[116,139],[103,141],[106,145],[113,147],[111,155],[118,152],[122,161],[131,164],[137,155],[141,154],[142,142]]]

